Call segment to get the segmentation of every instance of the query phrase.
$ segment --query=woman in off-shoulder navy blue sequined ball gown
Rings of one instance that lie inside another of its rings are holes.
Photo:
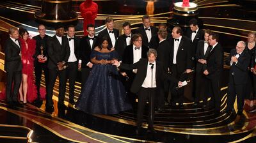
[[[91,54],[92,71],[75,107],[89,114],[118,114],[132,107],[127,103],[116,66],[111,64],[118,54],[109,47],[107,37],[102,38],[100,43]]]

